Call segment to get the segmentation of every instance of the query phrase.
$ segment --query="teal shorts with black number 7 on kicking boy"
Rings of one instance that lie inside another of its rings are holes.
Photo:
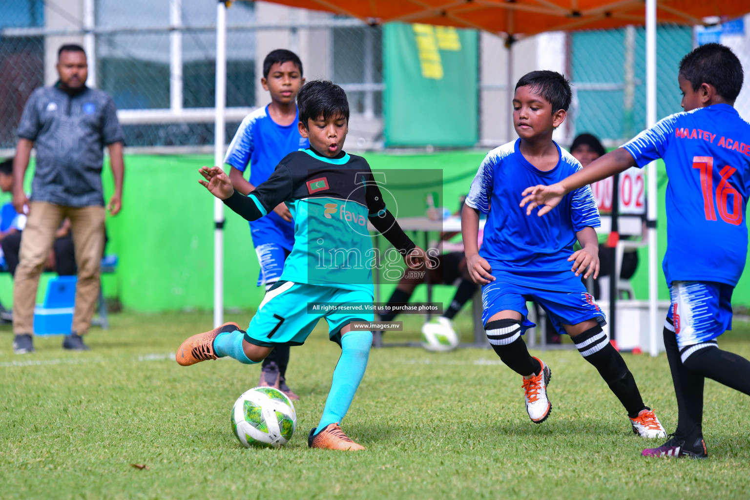
[[[325,312],[308,313],[308,303],[372,304],[372,295],[364,291],[344,290],[332,286],[308,285],[278,281],[263,298],[251,319],[245,340],[256,346],[302,346],[317,325],[325,318],[329,337],[341,345],[341,327],[353,321],[375,320],[373,313]]]

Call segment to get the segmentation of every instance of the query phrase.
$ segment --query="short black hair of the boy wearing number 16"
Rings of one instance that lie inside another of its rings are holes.
[[[691,83],[693,91],[708,83],[731,103],[742,90],[742,63],[732,49],[721,43],[706,43],[692,49],[679,61],[679,74]]]

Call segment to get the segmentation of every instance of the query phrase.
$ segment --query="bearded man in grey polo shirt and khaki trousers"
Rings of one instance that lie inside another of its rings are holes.
[[[23,109],[13,162],[13,205],[28,214],[21,239],[20,262],[13,283],[13,352],[34,351],[34,304],[39,276],[65,217],[78,265],[73,332],[65,349],[89,349],[83,334],[89,330],[99,294],[99,268],[104,252],[104,194],[101,169],[104,147],[110,150],[115,193],[110,214],[120,211],[122,199],[122,130],[115,103],[108,94],[86,87],[86,53],[78,45],[58,51],[55,85],[37,88]],[[31,148],[37,148],[31,201],[23,190]]]

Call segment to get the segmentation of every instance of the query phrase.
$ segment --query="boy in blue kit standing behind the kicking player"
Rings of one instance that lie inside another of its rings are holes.
[[[271,94],[271,103],[242,120],[224,158],[224,163],[230,166],[229,180],[245,196],[268,180],[281,158],[310,145],[297,127],[296,97],[305,83],[299,57],[285,49],[269,52],[263,60],[260,82]],[[248,166],[249,182],[244,177]],[[284,203],[279,204],[268,217],[252,221],[250,229],[260,263],[258,286],[263,285],[268,291],[281,276],[284,261],[294,244],[294,223],[289,208]],[[290,399],[299,400],[287,385],[289,350],[289,346],[278,346],[263,360],[259,385],[275,387]]]

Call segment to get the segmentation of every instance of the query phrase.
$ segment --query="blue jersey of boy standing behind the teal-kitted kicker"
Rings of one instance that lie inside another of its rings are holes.
[[[297,112],[299,118],[299,111]],[[229,144],[224,163],[240,172],[250,166],[250,182],[258,186],[266,182],[282,158],[308,148],[308,139],[299,135],[297,119],[290,125],[279,125],[269,115],[269,106],[256,109],[242,120]],[[294,223],[287,222],[274,212],[250,223],[253,244],[275,243],[287,250],[294,244]]]

